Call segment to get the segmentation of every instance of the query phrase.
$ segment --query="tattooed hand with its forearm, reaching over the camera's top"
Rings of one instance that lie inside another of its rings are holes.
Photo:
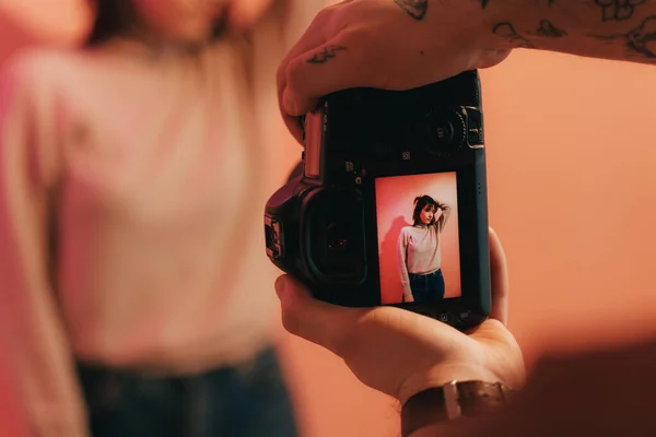
[[[503,61],[516,48],[656,64],[656,2],[347,0],[321,11],[282,61],[290,130],[354,86],[408,90]]]

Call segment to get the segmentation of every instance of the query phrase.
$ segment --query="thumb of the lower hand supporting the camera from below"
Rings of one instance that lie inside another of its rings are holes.
[[[281,303],[284,328],[339,356],[342,356],[344,340],[352,333],[350,327],[366,312],[366,309],[339,307],[317,300],[288,275],[276,281],[276,292]]]

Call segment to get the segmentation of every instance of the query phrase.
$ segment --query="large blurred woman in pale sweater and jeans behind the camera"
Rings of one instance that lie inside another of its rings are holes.
[[[307,3],[96,0],[83,48],[8,62],[0,368],[33,435],[296,435],[261,214]]]

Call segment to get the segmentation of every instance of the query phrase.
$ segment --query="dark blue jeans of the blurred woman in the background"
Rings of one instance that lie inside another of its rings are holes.
[[[93,437],[296,437],[273,351],[248,367],[150,378],[79,366]]]

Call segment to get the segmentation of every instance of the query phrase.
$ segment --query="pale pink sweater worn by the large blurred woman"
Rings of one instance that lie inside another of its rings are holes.
[[[258,35],[253,64],[226,40],[184,62],[38,50],[2,72],[0,380],[34,435],[87,435],[75,359],[189,374],[272,341],[262,212],[293,162],[284,47]]]

